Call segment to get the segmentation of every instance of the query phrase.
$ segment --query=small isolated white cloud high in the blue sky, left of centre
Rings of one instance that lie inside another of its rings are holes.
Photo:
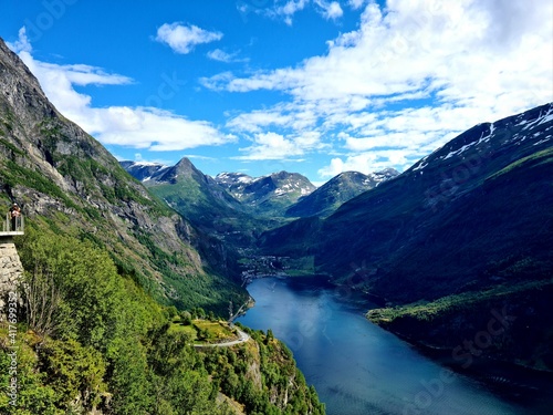
[[[157,29],[156,41],[168,44],[175,52],[190,53],[197,44],[210,43],[222,39],[221,32],[210,32],[197,25],[182,25],[179,22],[165,23]]]

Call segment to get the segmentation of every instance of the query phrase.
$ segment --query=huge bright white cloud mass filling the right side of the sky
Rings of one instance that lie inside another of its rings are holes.
[[[340,13],[328,11],[331,2],[314,3],[326,4],[328,18]],[[348,4],[366,4],[359,27],[330,41],[324,55],[295,68],[202,80],[213,90],[265,90],[290,97],[234,115],[228,126],[237,134],[276,128],[289,141],[306,128],[325,137],[343,132],[348,138],[335,144],[346,158],[322,169],[326,177],[382,163],[408,166],[477,123],[553,101],[550,0]],[[289,17],[306,7],[286,6]]]

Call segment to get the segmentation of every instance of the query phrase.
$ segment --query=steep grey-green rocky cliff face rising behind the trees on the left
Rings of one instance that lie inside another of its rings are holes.
[[[92,239],[109,250],[121,271],[161,302],[222,308],[231,297],[246,295],[232,281],[206,271],[192,247],[200,240],[197,232],[63,117],[1,40],[0,189],[6,207],[17,200],[31,226]],[[213,286],[223,288],[211,295]]]

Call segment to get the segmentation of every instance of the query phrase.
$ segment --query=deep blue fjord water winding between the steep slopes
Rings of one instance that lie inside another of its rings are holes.
[[[239,321],[271,329],[326,404],[328,415],[526,414],[419,354],[363,315],[374,307],[315,278],[264,278]]]

